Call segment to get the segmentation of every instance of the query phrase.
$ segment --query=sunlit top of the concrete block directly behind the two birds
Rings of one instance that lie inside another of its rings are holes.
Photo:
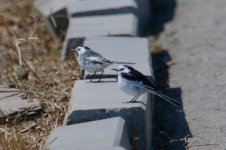
[[[88,46],[104,57],[119,62],[131,62],[132,67],[138,69],[143,74],[152,75],[150,42],[146,38],[133,37],[99,37],[87,38],[84,41],[85,46]],[[150,65],[148,65],[150,64]],[[105,69],[105,74],[115,74],[111,70],[119,64],[113,64]]]

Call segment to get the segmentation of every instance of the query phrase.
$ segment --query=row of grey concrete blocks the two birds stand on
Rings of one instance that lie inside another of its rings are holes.
[[[99,5],[97,5],[98,2]],[[93,5],[90,5],[92,3]],[[51,0],[48,2],[36,0],[34,5],[46,19],[53,37],[59,39],[62,32],[67,32],[63,43],[62,59],[70,55],[71,48],[86,45],[113,61],[134,63],[132,66],[142,73],[147,76],[153,75],[149,41],[145,38],[135,38],[144,36],[148,28],[150,22],[148,0],[118,0],[118,3],[115,0]],[[118,65],[112,65],[111,68],[116,66]],[[50,135],[49,141],[54,136],[59,136],[60,140],[51,144],[50,149],[65,147],[74,149],[76,145],[82,146],[78,149],[83,150],[84,146],[90,147],[88,149],[129,150],[125,121],[133,147],[138,150],[151,149],[153,97],[144,94],[143,98],[139,99],[140,103],[124,103],[131,97],[119,90],[115,83],[116,74],[111,71],[111,68],[105,70],[107,76],[104,76],[103,82],[99,84],[89,83],[88,80],[75,82],[65,125],[79,124],[56,128]],[[86,78],[89,78],[89,74]],[[121,116],[125,121],[120,118],[111,122],[115,119],[112,117],[117,116]],[[92,128],[96,134],[84,135],[82,138],[84,141],[89,141],[90,137],[97,137],[96,142],[99,142],[98,133],[105,133],[104,126],[108,128],[112,125],[118,126],[112,131],[106,131],[109,134],[104,140],[115,139],[114,146],[104,146],[104,143],[102,145],[87,144],[77,140],[78,144],[76,144],[72,140],[76,135],[73,134],[74,130],[82,132]]]

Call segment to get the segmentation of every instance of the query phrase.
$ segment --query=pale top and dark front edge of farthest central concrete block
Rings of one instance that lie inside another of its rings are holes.
[[[134,0],[86,0],[71,1],[67,10],[70,17],[88,17],[100,15],[136,14],[138,6]]]

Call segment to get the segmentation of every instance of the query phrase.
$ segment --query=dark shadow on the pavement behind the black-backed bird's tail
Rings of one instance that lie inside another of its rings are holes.
[[[153,70],[156,85],[170,97],[182,103],[180,88],[169,88],[169,72],[167,62],[171,60],[166,50],[153,53]],[[153,149],[154,150],[185,150],[186,138],[191,137],[188,123],[182,108],[177,110],[171,104],[155,97],[153,111]]]

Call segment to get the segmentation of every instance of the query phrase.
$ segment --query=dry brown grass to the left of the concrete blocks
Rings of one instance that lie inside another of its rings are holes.
[[[73,81],[74,61],[60,61],[54,42],[33,11],[31,0],[0,0],[0,83],[40,99],[41,115],[0,124],[0,150],[42,149],[50,131],[62,124]]]

